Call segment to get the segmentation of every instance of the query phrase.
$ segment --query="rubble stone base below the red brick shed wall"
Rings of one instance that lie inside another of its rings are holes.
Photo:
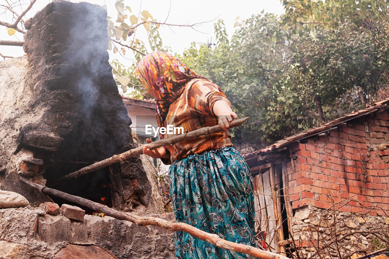
[[[354,254],[357,257],[364,251],[378,250],[379,245],[388,244],[389,218],[369,215],[368,210],[363,209],[351,213],[341,212],[336,207],[335,210],[323,210],[308,205],[296,210],[292,231],[305,258],[316,252],[325,259],[339,258],[339,252],[342,257],[357,252]],[[386,239],[386,244],[373,234]]]

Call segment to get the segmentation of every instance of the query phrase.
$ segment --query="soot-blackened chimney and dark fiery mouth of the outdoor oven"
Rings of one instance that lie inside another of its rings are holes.
[[[26,21],[24,87],[8,89],[18,101],[6,107],[0,121],[9,132],[0,151],[3,190],[12,191],[7,175],[16,172],[117,210],[149,203],[151,185],[140,158],[53,185],[63,175],[136,146],[108,62],[106,17],[98,5],[59,0]],[[35,194],[27,198],[46,201]]]

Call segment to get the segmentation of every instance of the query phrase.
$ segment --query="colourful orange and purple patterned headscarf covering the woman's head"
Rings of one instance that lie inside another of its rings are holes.
[[[147,93],[156,99],[157,122],[163,127],[170,104],[184,91],[187,82],[203,78],[182,64],[177,58],[162,51],[144,56],[134,70]]]

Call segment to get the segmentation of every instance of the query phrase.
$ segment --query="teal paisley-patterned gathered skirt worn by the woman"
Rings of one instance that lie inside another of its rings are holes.
[[[174,161],[169,173],[176,222],[184,222],[225,240],[255,245],[254,195],[250,169],[232,147],[223,147]],[[175,232],[179,259],[251,259]]]

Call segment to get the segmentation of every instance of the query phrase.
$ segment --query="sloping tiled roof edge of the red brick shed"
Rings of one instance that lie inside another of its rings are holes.
[[[263,149],[259,149],[259,150],[253,151],[249,154],[245,154],[244,158],[249,158],[249,157],[259,155],[261,153],[266,153],[266,152],[275,152],[275,151],[282,149],[283,147],[286,147],[287,145],[292,144],[293,142],[296,142],[296,141],[301,140],[303,138],[308,138],[308,137],[311,137],[313,135],[324,133],[326,131],[329,131],[329,130],[335,128],[339,124],[343,124],[344,122],[347,122],[347,121],[350,121],[352,119],[356,119],[358,117],[368,115],[368,114],[371,114],[371,113],[374,113],[377,111],[383,111],[383,110],[386,110],[387,108],[389,108],[389,98],[385,99],[383,101],[379,101],[377,103],[374,103],[371,107],[365,108],[363,110],[358,110],[356,112],[346,114],[343,117],[340,117],[340,118],[335,119],[333,121],[329,121],[325,124],[322,124],[319,127],[308,129],[306,131],[302,131],[300,133],[297,133],[297,134],[292,135],[290,137],[284,138],[282,140],[278,140],[274,144],[267,146]]]

